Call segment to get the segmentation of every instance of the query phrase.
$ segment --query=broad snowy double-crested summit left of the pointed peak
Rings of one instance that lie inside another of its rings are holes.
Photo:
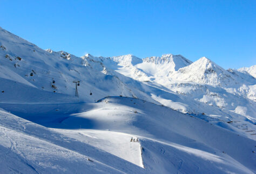
[[[145,59],[139,59],[132,55],[101,57],[101,59],[106,67],[139,81],[151,81],[157,76],[168,77],[179,68],[192,63],[181,55],[172,54]]]

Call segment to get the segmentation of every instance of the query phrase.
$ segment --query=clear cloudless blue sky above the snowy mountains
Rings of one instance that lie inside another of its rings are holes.
[[[82,56],[206,56],[256,64],[256,1],[10,1],[0,26],[46,49]]]

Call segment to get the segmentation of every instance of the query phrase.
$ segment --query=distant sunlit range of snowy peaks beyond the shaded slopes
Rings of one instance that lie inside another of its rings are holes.
[[[139,88],[120,74],[142,82],[154,100],[174,110],[185,113],[206,113],[207,110],[211,111],[207,115],[222,115],[219,119],[239,117],[240,120],[244,117],[243,120],[255,122],[256,81],[248,73],[225,70],[206,57],[192,63],[183,56],[172,54],[143,60],[132,55],[90,56],[90,59],[103,63],[106,69],[116,71],[116,76],[126,84],[145,91],[145,87]],[[89,57],[85,55],[83,58]]]

